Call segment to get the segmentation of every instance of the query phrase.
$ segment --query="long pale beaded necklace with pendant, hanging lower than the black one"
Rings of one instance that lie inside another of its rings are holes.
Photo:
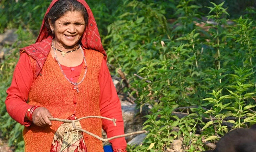
[[[54,41],[54,40],[53,40],[53,41]],[[73,84],[73,85],[75,86],[76,92],[78,93],[78,92],[79,92],[78,85],[81,84],[81,83],[84,81],[85,76],[86,76],[86,73],[87,73],[87,64],[86,64],[86,60],[85,60],[84,50],[82,49],[81,45],[79,44],[79,47],[78,47],[78,48],[80,48],[80,50],[81,50],[81,52],[82,52],[82,55],[83,55],[83,58],[84,58],[84,62],[85,62],[85,73],[84,73],[84,76],[83,76],[83,78],[82,78],[82,80],[81,80],[80,82],[78,82],[78,83],[77,83],[77,82],[72,82],[72,81],[69,80],[69,78],[66,76],[66,74],[64,73],[64,71],[63,71],[63,69],[62,69],[62,67],[61,67],[61,65],[60,65],[60,63],[59,63],[59,60],[58,60],[56,51],[55,51],[55,49],[54,49],[54,43],[53,43],[53,41],[52,41],[52,48],[53,48],[53,52],[54,52],[55,58],[56,58],[56,60],[57,60],[57,63],[58,63],[58,65],[59,65],[59,68],[60,68],[62,74],[64,75],[64,77],[68,80],[68,82],[70,82],[71,84]]]

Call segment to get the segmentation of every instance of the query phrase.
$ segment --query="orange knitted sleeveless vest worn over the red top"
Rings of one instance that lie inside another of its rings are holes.
[[[99,71],[103,54],[94,50],[85,50],[87,73],[84,81],[78,85],[79,93],[74,85],[66,80],[57,62],[49,54],[41,70],[41,76],[34,78],[28,95],[28,104],[47,108],[54,118],[67,119],[74,113],[73,96],[76,97],[75,114],[77,118],[85,116],[100,116],[99,108]],[[36,61],[31,59],[35,74]],[[85,73],[82,68],[77,82]],[[63,122],[52,121],[52,126],[39,127],[33,123],[24,128],[26,152],[49,152],[57,128]],[[99,118],[88,118],[80,121],[83,129],[102,136],[102,121]],[[88,152],[103,152],[102,141],[83,133]]]

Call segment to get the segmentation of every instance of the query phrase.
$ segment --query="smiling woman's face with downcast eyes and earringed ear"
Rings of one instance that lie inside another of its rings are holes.
[[[50,21],[49,23],[54,30],[56,45],[67,49],[78,45],[85,30],[85,20],[79,11],[68,11],[54,25]]]

